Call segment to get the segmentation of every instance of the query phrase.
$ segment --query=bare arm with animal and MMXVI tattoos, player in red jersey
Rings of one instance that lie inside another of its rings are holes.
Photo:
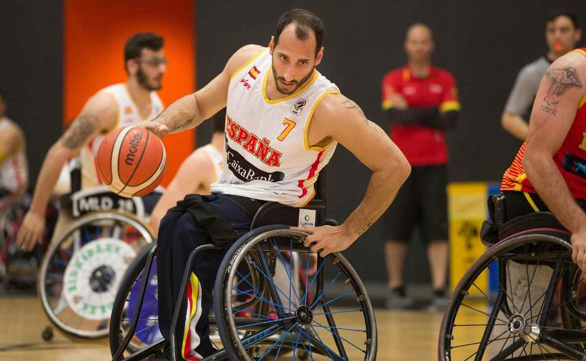
[[[533,104],[523,168],[537,193],[572,233],[573,259],[584,270],[586,214],[574,201],[553,156],[570,130],[586,88],[586,59],[569,53],[544,75]],[[579,146],[576,144],[575,146]]]

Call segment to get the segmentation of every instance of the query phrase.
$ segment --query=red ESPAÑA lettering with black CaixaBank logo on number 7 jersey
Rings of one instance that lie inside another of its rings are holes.
[[[230,116],[227,116],[226,118],[227,137],[241,145],[244,150],[253,154],[258,160],[267,164],[267,166],[281,166],[282,153],[273,149],[270,146],[270,141],[266,138],[259,139],[257,135],[248,132],[248,130],[234,122]],[[228,139],[226,139],[226,156],[228,168],[232,171],[234,176],[243,182],[250,182],[253,180],[278,182],[285,178],[285,174],[280,171],[269,173],[255,167],[250,161],[246,160],[242,154],[228,145]]]

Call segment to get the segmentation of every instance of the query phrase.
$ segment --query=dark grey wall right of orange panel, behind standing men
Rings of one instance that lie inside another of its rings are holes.
[[[431,26],[437,44],[434,63],[454,74],[462,102],[461,122],[448,135],[452,181],[500,179],[520,146],[500,128],[500,114],[517,71],[546,53],[544,20],[548,13],[558,8],[570,9],[581,18],[586,13],[586,3],[581,0],[299,0],[294,5],[314,12],[325,23],[321,73],[383,128],[387,125],[380,112],[380,80],[387,71],[404,64],[402,48],[408,25],[424,22]],[[198,6],[197,73],[198,84],[203,86],[240,46],[268,44],[278,17],[292,4],[201,1]],[[208,139],[209,130],[200,130],[198,145]],[[352,154],[339,147],[328,175],[329,215],[345,219],[362,200],[369,176]],[[375,224],[345,252],[363,279],[386,281],[379,239],[380,224]],[[425,253],[418,242],[407,257],[407,278],[428,281],[427,272],[422,271],[427,269]]]

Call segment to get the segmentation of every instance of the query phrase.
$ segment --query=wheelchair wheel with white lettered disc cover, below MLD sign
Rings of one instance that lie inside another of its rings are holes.
[[[96,212],[77,219],[40,265],[38,294],[47,317],[67,335],[107,336],[122,276],[152,242],[148,226],[132,215]]]

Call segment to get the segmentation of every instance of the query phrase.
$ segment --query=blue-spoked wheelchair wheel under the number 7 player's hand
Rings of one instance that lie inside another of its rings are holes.
[[[308,353],[311,359],[376,359],[372,304],[345,257],[318,257],[318,271],[306,273],[305,289],[295,290],[294,270],[285,256],[308,253],[303,246],[306,236],[287,226],[265,226],[241,237],[227,252],[216,278],[214,310],[230,360],[264,359],[275,350],[271,359],[291,351],[292,359],[299,353]],[[289,266],[289,287],[284,290],[272,279],[277,259]],[[254,272],[241,273],[245,262]],[[309,270],[309,257],[302,266]],[[309,302],[311,295],[314,300]]]

